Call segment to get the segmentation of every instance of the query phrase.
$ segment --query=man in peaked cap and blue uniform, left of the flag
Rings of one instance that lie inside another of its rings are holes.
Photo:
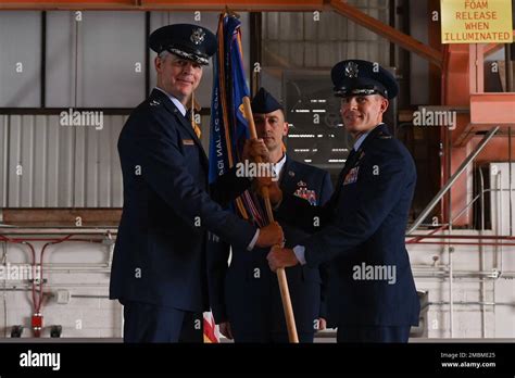
[[[216,50],[215,36],[189,24],[150,36],[158,86],[130,114],[118,139],[124,207],[114,250],[110,298],[124,304],[126,342],[201,342],[208,310],[206,230],[252,250],[282,240],[277,224],[256,229],[226,203],[250,180],[227,174],[208,185],[208,159],[186,105]],[[266,149],[258,141],[247,151]],[[250,253],[250,252],[249,252]],[[200,314],[200,316],[199,316]]]

